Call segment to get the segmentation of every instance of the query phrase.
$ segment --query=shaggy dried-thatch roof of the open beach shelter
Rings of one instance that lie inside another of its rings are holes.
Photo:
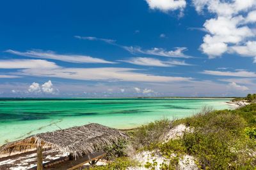
[[[69,152],[79,156],[92,153],[106,145],[116,143],[118,139],[126,139],[124,132],[100,124],[62,129],[54,132],[35,134],[19,141],[13,141],[0,147],[0,153],[22,151],[27,148],[54,148],[61,152]]]

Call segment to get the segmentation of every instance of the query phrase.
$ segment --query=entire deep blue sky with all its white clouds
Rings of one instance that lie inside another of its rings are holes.
[[[1,1],[0,97],[246,96],[256,0]]]

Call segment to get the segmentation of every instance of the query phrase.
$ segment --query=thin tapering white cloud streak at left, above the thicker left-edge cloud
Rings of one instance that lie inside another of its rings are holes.
[[[52,51],[42,51],[42,50],[28,50],[26,52],[18,52],[15,50],[6,50],[5,52],[12,53],[15,55],[21,55],[25,57],[35,57],[40,59],[52,59],[61,60],[65,62],[74,63],[104,63],[104,64],[114,64],[115,62],[110,62],[104,59],[93,58],[87,55],[64,55],[58,54]]]

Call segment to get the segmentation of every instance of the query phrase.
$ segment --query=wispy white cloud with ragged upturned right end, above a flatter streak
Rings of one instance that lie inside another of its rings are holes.
[[[175,50],[166,51],[163,48],[152,48],[150,50],[144,50],[140,46],[122,46],[130,53],[143,53],[147,55],[159,55],[163,57],[177,57],[177,58],[191,58],[191,56],[184,54],[186,47],[176,47]]]

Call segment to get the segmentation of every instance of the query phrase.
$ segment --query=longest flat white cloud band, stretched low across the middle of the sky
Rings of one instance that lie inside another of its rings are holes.
[[[171,82],[190,81],[192,78],[178,76],[157,76],[147,73],[136,73],[138,69],[122,67],[65,68],[56,69],[21,69],[17,75],[44,76],[92,81],[138,81],[138,82]]]

